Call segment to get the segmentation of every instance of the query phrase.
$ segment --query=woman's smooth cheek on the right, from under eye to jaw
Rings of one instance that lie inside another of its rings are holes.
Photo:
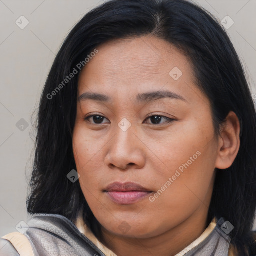
[[[152,200],[158,206],[164,203],[162,213],[168,208],[178,214],[184,205],[192,209],[200,204],[209,190],[217,153],[213,126],[196,121],[182,124],[162,145],[155,145],[161,148],[164,165],[157,171],[154,168],[159,192]]]

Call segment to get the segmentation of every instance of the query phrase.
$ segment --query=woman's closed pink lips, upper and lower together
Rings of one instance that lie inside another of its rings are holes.
[[[133,182],[113,182],[103,191],[117,204],[135,203],[153,192]]]

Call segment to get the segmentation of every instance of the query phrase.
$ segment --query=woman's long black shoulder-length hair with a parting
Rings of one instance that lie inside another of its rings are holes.
[[[230,242],[242,255],[255,253],[254,102],[242,64],[223,27],[205,9],[185,0],[110,0],[90,10],[72,28],[54,59],[40,98],[28,212],[60,214],[71,221],[82,212],[87,226],[99,237],[100,225],[79,182],[67,178],[76,169],[72,133],[80,70],[54,97],[47,95],[63,84],[96,46],[143,35],[164,39],[188,57],[196,85],[210,101],[216,134],[229,111],[236,113],[241,126],[240,148],[229,168],[216,169],[207,221],[224,217],[234,226]]]

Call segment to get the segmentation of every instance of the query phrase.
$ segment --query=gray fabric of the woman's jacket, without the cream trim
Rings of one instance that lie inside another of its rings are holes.
[[[212,232],[184,255],[228,256],[230,237],[223,231],[224,222],[220,218]],[[27,224],[29,228],[24,235],[29,239],[36,256],[106,256],[64,216],[35,214]],[[9,241],[0,238],[0,256],[19,254]]]

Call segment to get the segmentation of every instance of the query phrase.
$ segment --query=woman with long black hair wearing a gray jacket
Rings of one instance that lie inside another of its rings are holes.
[[[256,254],[255,108],[202,8],[91,10],[55,58],[37,127],[33,215],[4,255]]]

